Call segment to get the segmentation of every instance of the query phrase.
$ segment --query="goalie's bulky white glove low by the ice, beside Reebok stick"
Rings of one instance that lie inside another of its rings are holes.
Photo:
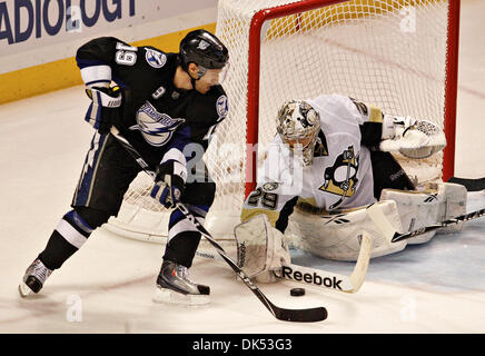
[[[274,228],[265,214],[235,227],[237,261],[249,278],[259,283],[276,281],[283,265],[290,264],[284,235]]]

